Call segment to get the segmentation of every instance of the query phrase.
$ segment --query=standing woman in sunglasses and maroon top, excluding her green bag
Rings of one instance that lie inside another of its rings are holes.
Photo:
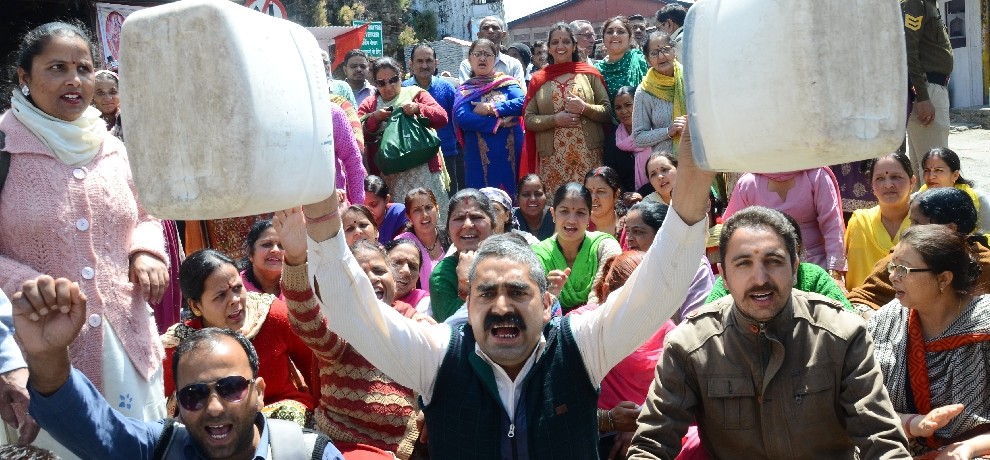
[[[447,183],[443,156],[437,149],[428,162],[395,174],[381,174],[375,157],[381,143],[381,135],[393,113],[402,111],[409,117],[424,117],[433,129],[447,124],[447,111],[433,96],[418,86],[402,86],[402,65],[389,57],[376,59],[371,64],[371,75],[377,90],[358,107],[358,116],[364,125],[365,154],[369,174],[381,176],[394,196],[406,196],[406,192],[427,187],[437,200],[447,200]],[[441,217],[444,214],[441,213]]]

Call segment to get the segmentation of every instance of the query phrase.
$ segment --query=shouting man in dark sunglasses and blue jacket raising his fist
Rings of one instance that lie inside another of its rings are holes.
[[[258,355],[236,332],[205,328],[188,336],[173,359],[181,424],[141,421],[115,411],[70,365],[68,346],[87,318],[78,284],[41,276],[12,301],[31,373],[31,415],[81,458],[343,459],[326,436],[261,414]]]

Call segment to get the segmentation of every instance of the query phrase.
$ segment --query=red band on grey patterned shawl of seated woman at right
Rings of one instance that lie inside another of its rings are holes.
[[[919,414],[924,415],[932,410],[931,383],[925,354],[955,350],[979,342],[990,342],[990,334],[957,334],[925,343],[921,331],[921,316],[917,310],[911,309],[908,314],[908,384],[911,385],[911,398]],[[925,438],[925,444],[933,449],[945,446],[949,441],[936,438],[934,434]]]

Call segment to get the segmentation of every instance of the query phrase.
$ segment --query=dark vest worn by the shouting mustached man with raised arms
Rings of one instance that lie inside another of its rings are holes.
[[[519,387],[522,397],[510,423],[495,374],[475,353],[471,326],[453,331],[433,400],[424,409],[431,458],[598,458],[598,389],[581,360],[569,318],[555,318],[543,335],[547,346]]]

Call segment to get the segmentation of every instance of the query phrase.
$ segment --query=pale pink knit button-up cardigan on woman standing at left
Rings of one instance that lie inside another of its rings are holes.
[[[164,352],[139,288],[128,281],[130,256],[162,260],[161,223],[137,202],[124,145],[107,135],[88,165],[59,161],[8,111],[0,118],[0,149],[11,153],[0,194],[0,288],[13,294],[39,275],[79,282],[87,321],[70,347],[72,365],[103,388],[102,321],[119,337],[145,379]]]

